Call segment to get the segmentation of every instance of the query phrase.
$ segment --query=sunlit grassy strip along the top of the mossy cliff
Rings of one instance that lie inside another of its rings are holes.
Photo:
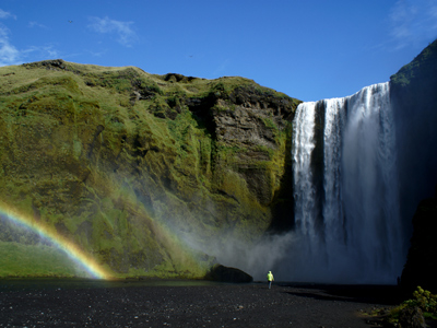
[[[223,77],[214,80],[185,77],[177,73],[150,74],[135,67],[102,67],[63,61],[44,60],[21,66],[0,68],[0,95],[17,94],[42,86],[42,84],[67,83],[61,77],[68,73],[78,83],[78,92],[86,93],[86,86],[109,87],[118,93],[145,92],[158,95],[186,94],[201,96],[211,90],[231,93],[236,87],[256,89],[259,93],[279,97],[287,95],[261,86],[240,77]],[[59,80],[58,82],[56,80]],[[55,81],[54,81],[55,80]],[[80,83],[80,81],[84,83]]]

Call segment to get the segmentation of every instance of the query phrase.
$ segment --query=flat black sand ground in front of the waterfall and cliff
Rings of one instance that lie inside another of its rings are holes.
[[[0,327],[377,327],[395,286],[0,281]]]

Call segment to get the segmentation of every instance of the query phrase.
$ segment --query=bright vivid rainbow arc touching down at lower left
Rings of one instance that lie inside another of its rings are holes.
[[[0,202],[0,215],[8,220],[22,224],[31,229],[35,233],[49,241],[52,245],[67,253],[69,258],[76,265],[82,267],[94,279],[110,279],[110,274],[106,272],[93,258],[83,253],[76,245],[69,239],[60,236],[54,229],[49,229],[43,222],[35,222],[27,215],[17,212],[12,207]]]

